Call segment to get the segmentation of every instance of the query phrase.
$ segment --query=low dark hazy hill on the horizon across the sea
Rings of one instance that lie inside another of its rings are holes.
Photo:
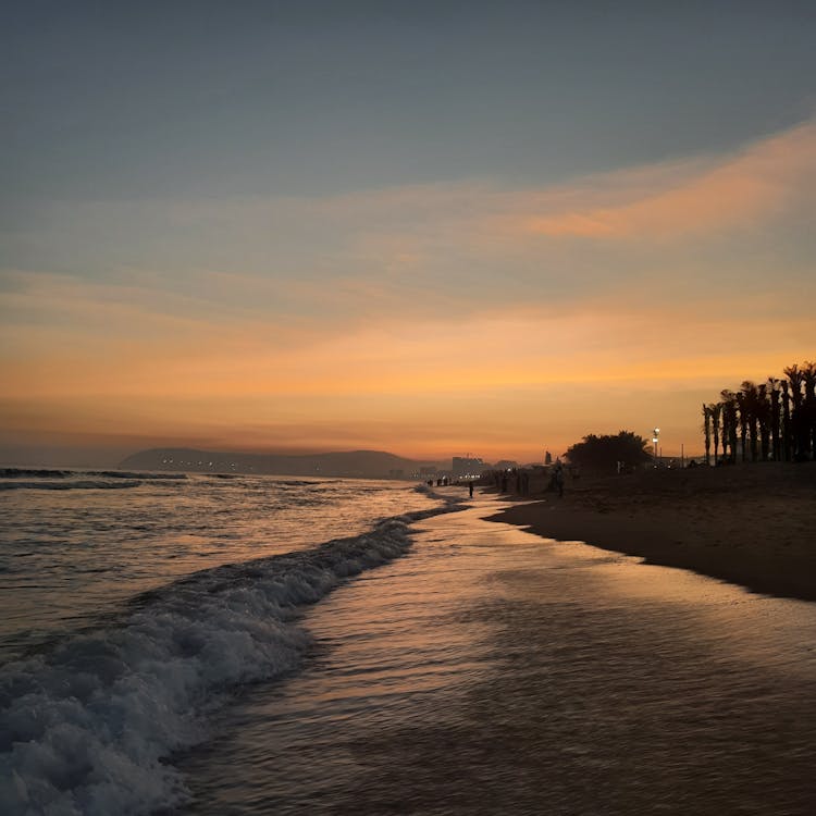
[[[191,473],[262,473],[269,475],[357,477],[409,479],[420,468],[445,467],[442,462],[404,459],[383,450],[331,454],[234,454],[195,448],[150,448],[120,462],[125,470],[172,470]]]

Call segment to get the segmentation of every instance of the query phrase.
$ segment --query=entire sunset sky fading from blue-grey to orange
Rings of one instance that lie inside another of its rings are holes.
[[[537,461],[816,358],[811,2],[12,2],[0,463]]]

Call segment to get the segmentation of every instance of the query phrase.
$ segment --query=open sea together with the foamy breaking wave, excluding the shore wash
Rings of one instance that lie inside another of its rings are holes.
[[[149,813],[305,607],[456,506],[397,482],[0,471],[0,813]]]

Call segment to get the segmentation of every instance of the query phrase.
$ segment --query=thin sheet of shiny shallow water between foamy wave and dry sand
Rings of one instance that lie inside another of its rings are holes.
[[[480,519],[313,607],[181,758],[191,814],[812,814],[816,606]]]

